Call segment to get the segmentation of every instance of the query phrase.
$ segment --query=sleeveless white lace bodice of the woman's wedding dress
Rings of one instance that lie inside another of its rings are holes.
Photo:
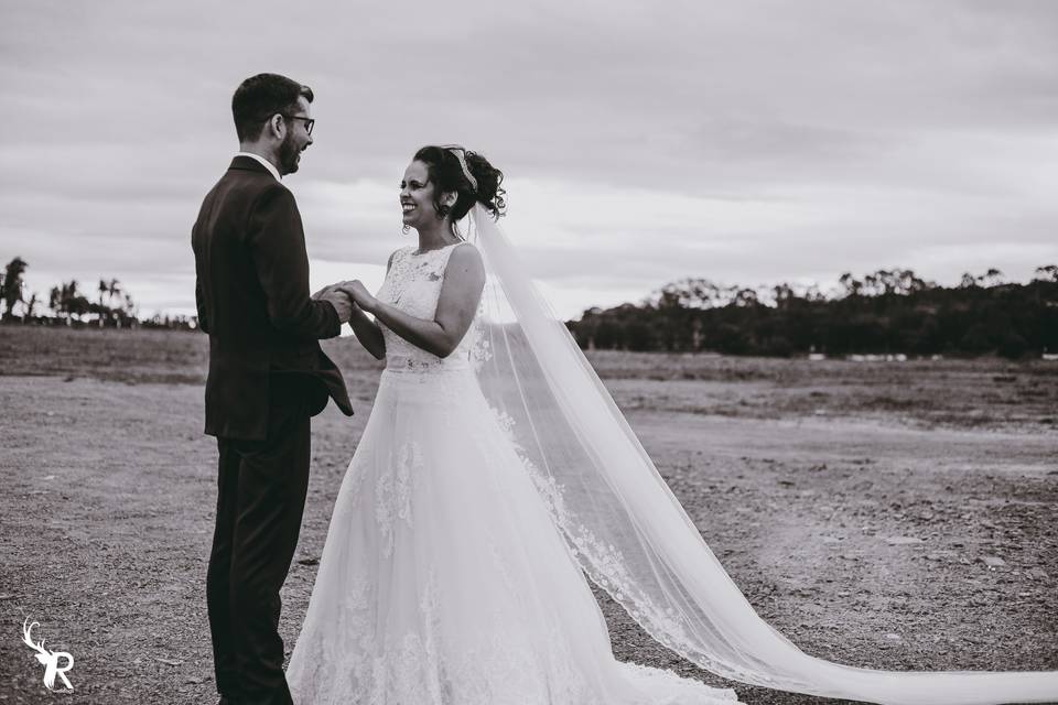
[[[433,318],[438,312],[438,299],[441,296],[449,258],[460,245],[462,243],[456,242],[422,253],[415,253],[414,246],[397,250],[377,299],[417,318]],[[391,372],[425,373],[472,369],[471,352],[478,338],[476,317],[460,345],[445,358],[404,340],[382,322],[378,325],[386,339],[386,369]]]

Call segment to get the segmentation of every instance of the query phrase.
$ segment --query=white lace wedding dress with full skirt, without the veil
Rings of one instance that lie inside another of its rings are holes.
[[[378,299],[432,318],[455,247],[399,250]],[[382,333],[386,370],[288,669],[294,702],[735,702],[614,658],[584,574],[482,393],[476,323],[444,359]]]

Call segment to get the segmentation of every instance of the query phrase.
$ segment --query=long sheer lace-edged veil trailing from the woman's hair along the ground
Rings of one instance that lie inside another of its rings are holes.
[[[721,676],[890,705],[1058,701],[1058,672],[889,672],[810,657],[769,627],[705,544],[488,213],[474,350],[489,404],[584,572],[658,642]]]

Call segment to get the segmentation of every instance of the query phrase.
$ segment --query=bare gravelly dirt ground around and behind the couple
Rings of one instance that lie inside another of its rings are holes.
[[[313,422],[288,650],[379,364]],[[0,327],[0,703],[213,703],[216,445],[196,334]],[[593,354],[735,583],[805,651],[894,670],[1058,669],[1058,364]],[[605,598],[622,659],[724,682]],[[21,641],[68,651],[48,693]],[[754,704],[824,702],[733,685]],[[833,702],[833,701],[831,701]]]

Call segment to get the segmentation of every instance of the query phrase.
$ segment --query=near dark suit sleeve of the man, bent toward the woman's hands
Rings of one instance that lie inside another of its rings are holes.
[[[247,246],[278,330],[299,338],[333,338],[338,313],[309,294],[309,254],[294,196],[281,184],[268,188],[250,213]]]

